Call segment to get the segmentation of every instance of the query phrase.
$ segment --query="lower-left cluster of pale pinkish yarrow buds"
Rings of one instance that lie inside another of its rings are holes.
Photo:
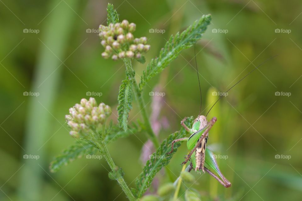
[[[111,109],[104,103],[97,104],[94,98],[89,100],[82,98],[80,104],[69,109],[69,115],[65,115],[70,135],[73,137],[86,136],[90,130],[99,131],[106,119],[110,116]]]

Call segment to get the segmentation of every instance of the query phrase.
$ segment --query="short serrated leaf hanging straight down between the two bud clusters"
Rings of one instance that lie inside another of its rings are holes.
[[[130,78],[122,81],[120,85],[120,91],[118,96],[119,105],[117,111],[119,114],[119,125],[120,128],[127,130],[129,112],[132,109],[132,83]]]

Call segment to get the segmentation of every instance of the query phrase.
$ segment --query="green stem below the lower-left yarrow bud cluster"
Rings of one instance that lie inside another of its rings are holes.
[[[115,172],[115,164],[109,154],[109,151],[106,147],[106,145],[104,144],[104,142],[96,142],[96,145],[98,146],[100,152],[103,154],[103,156],[105,157],[108,165],[110,166],[111,170],[113,172]],[[123,191],[125,192],[126,196],[129,198],[130,201],[135,201],[136,198],[134,197],[134,195],[131,193],[131,190],[129,189],[129,187],[127,186],[124,178],[122,176],[116,178],[116,181],[120,184],[120,187],[123,189]]]

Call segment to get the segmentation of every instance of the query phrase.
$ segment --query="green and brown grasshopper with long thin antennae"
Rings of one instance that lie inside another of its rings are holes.
[[[194,50],[195,51],[195,50]],[[276,55],[277,56],[277,55]],[[252,73],[254,70],[256,70],[259,66],[267,62],[268,60],[276,57],[273,56],[266,61],[262,62],[258,66],[256,66],[253,70],[251,70],[247,75],[245,75],[242,79],[240,79],[236,84],[234,84],[231,88],[229,88],[225,93],[227,93],[229,90],[231,90],[233,87],[235,87],[240,81],[242,81],[245,77],[247,77],[250,73]],[[196,56],[195,56],[195,62],[196,62]],[[196,64],[196,70],[197,70],[197,64]],[[198,75],[198,70],[197,70],[197,75]],[[198,81],[199,81],[199,75],[198,75]],[[200,83],[200,82],[199,82]],[[201,88],[199,84],[199,89],[200,89],[200,96],[201,96]],[[223,96],[220,96],[218,100],[212,105],[210,110],[214,107],[214,105],[222,98]],[[215,159],[214,154],[206,148],[206,144],[208,141],[208,136],[209,136],[209,131],[212,128],[212,126],[215,124],[217,118],[213,117],[209,122],[207,121],[207,115],[209,114],[210,110],[207,112],[206,116],[204,115],[198,115],[197,118],[194,120],[192,128],[188,128],[186,124],[184,123],[187,118],[184,118],[181,121],[181,125],[185,128],[185,130],[190,133],[190,137],[183,137],[180,139],[173,140],[171,143],[171,152],[168,154],[171,154],[173,152],[173,146],[175,142],[179,141],[187,141],[187,148],[188,150],[191,150],[191,152],[186,155],[186,160],[182,162],[183,164],[186,164],[191,157],[195,158],[195,160],[191,160],[190,163],[190,169],[194,169],[197,172],[207,172],[211,176],[213,176],[219,183],[221,183],[224,187],[231,187],[231,182],[228,181],[225,176],[221,173],[219,166],[217,164],[217,161]],[[201,106],[200,106],[200,111],[201,111]],[[199,114],[200,114],[199,111]],[[204,166],[204,163],[206,163],[208,166],[210,166],[213,170],[216,171],[216,173],[220,176],[215,175],[211,170],[206,168]]]

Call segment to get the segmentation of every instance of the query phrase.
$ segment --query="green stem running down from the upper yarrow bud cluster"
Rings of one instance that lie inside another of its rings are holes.
[[[157,137],[155,136],[155,134],[152,130],[152,127],[151,127],[151,124],[150,124],[150,121],[149,121],[149,117],[148,117],[146,109],[145,109],[145,103],[144,103],[144,100],[143,100],[143,97],[142,97],[142,93],[139,90],[139,87],[138,87],[137,82],[135,80],[135,72],[132,68],[131,60],[130,59],[124,59],[124,62],[125,62],[125,65],[126,65],[126,75],[129,76],[133,81],[134,95],[135,95],[135,98],[138,102],[141,114],[143,116],[143,120],[144,120],[146,129],[147,129],[148,136],[151,139],[151,141],[153,142],[154,146],[156,148],[158,148],[159,147],[159,142],[158,142],[158,139],[157,139]]]

